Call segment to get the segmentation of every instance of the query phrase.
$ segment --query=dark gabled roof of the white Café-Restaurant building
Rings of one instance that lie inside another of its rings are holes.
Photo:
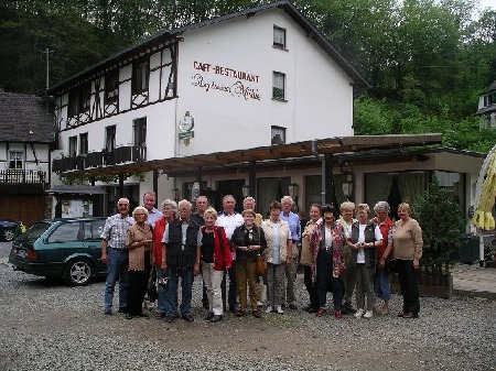
[[[48,89],[51,95],[56,94],[57,91],[67,89],[72,84],[75,83],[76,79],[85,79],[95,74],[99,74],[105,69],[105,67],[109,67],[115,65],[118,61],[121,61],[127,57],[132,57],[136,54],[139,54],[143,50],[148,50],[153,45],[159,43],[168,42],[174,40],[175,37],[182,35],[183,33],[196,29],[201,29],[204,26],[213,25],[216,23],[229,21],[239,17],[252,17],[257,12],[265,11],[268,9],[281,9],[283,10],[298,25],[300,25],[320,47],[331,57],[334,62],[343,68],[343,70],[354,80],[357,88],[369,88],[368,83],[362,77],[362,75],[353,67],[341,54],[337,50],[325,39],[325,36],[317,30],[315,26],[310,23],[310,21],[288,0],[274,1],[269,4],[263,4],[255,8],[245,9],[239,12],[216,17],[203,22],[188,24],[185,26],[181,26],[172,30],[163,30],[154,35],[143,39],[138,44],[123,50],[111,57],[104,59],[96,65],[72,76],[71,78],[57,84]]]

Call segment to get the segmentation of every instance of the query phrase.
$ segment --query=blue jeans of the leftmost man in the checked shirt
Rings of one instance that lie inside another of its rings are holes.
[[[128,252],[126,250],[107,248],[107,257],[104,310],[109,312],[112,309],[114,288],[119,280],[119,310],[126,312],[129,292]]]

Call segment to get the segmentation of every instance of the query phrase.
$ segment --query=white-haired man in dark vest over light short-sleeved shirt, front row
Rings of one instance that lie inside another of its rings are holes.
[[[165,226],[162,239],[162,269],[169,268],[169,291],[166,295],[165,321],[172,323],[177,313],[177,285],[181,277],[181,315],[188,323],[191,314],[193,276],[200,273],[200,247],[202,232],[191,219],[192,205],[186,199],[179,203],[180,217]]]

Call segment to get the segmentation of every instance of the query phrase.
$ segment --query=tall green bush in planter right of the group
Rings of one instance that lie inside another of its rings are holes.
[[[465,220],[459,204],[448,197],[435,176],[422,197],[417,198],[412,215],[422,228],[422,265],[441,272],[443,266],[456,262]]]

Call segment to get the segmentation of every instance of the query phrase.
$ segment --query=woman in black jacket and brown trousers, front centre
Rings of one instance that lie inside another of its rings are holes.
[[[257,255],[263,253],[267,247],[266,236],[260,227],[255,225],[256,212],[252,209],[242,211],[242,226],[237,227],[230,242],[236,249],[236,283],[238,285],[239,309],[237,317],[245,316],[246,313],[246,284],[248,282],[250,294],[251,314],[260,318],[257,309],[257,273],[255,272]]]

